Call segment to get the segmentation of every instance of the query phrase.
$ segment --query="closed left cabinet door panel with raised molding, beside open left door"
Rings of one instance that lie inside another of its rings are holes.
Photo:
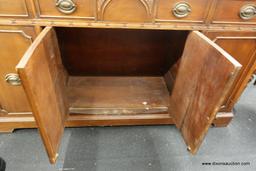
[[[16,74],[15,66],[35,36],[33,27],[0,26],[0,114],[31,112],[22,86],[8,84],[5,77]]]

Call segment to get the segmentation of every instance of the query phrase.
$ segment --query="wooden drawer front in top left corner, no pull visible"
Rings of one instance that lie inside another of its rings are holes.
[[[0,17],[28,17],[26,0],[0,0]]]

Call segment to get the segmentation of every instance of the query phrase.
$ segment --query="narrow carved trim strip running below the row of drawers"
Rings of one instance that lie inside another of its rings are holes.
[[[56,27],[83,27],[83,28],[134,28],[156,30],[202,30],[202,31],[252,31],[256,27],[252,25],[206,25],[206,24],[178,24],[178,23],[117,23],[79,20],[56,19],[6,19],[0,20],[0,25],[26,25],[26,26],[56,26]]]

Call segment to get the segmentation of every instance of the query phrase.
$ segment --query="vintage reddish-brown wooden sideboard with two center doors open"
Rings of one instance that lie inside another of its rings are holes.
[[[255,0],[0,0],[0,131],[176,124],[196,153],[256,68]]]

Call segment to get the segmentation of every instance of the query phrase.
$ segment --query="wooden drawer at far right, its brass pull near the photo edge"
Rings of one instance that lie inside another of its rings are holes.
[[[255,0],[219,0],[213,23],[256,24]]]

